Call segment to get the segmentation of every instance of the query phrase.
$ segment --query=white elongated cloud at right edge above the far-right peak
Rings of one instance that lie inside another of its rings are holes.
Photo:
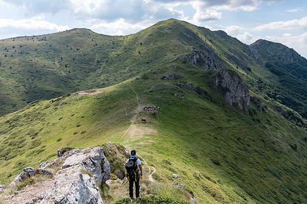
[[[293,29],[305,29],[307,28],[307,16],[300,19],[293,19],[288,21],[275,21],[266,24],[258,25],[256,31],[264,30],[293,30]]]

